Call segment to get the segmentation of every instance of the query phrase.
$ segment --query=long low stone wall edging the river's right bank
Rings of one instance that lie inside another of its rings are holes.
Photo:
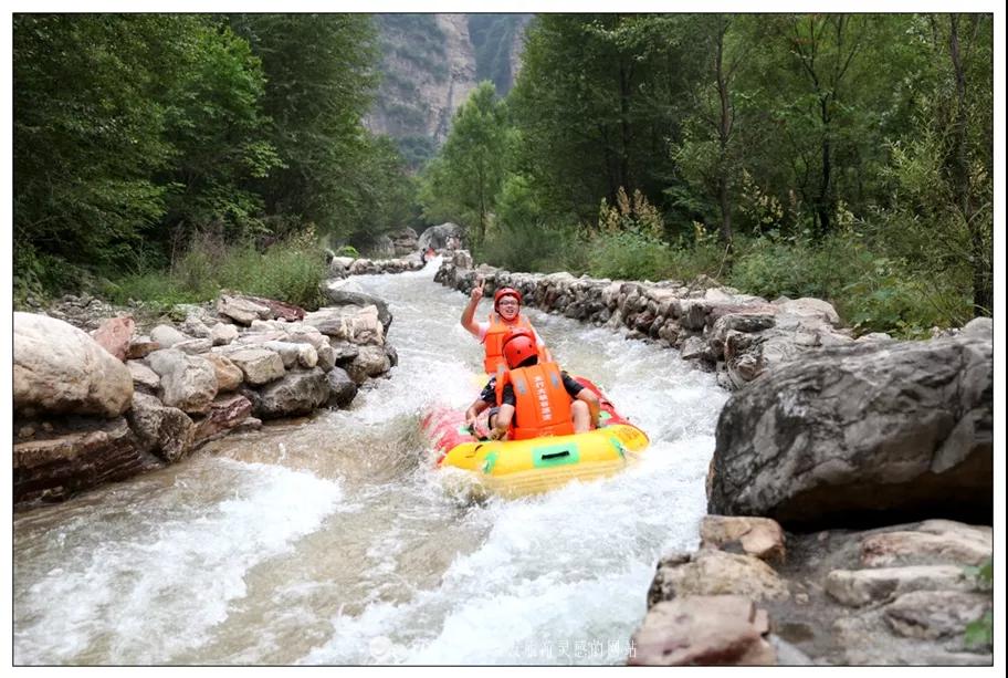
[[[529,306],[624,327],[631,338],[676,348],[683,359],[715,369],[718,384],[729,390],[810,350],[855,342],[828,302],[787,298],[770,302],[704,278],[686,284],[575,278],[566,272],[512,273],[487,265],[473,268],[472,257],[460,250],[442,262],[434,281],[469,293],[481,278],[485,295],[514,288]],[[891,340],[884,334],[857,340],[879,341]]]

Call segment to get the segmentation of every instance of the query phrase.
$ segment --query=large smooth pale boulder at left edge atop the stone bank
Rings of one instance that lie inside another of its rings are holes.
[[[14,411],[117,417],[129,407],[133,377],[82,330],[45,315],[14,313]]]

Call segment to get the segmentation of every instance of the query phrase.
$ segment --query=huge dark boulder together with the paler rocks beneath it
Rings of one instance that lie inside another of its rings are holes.
[[[991,337],[825,348],[733,394],[701,547],[659,563],[629,661],[989,665]]]

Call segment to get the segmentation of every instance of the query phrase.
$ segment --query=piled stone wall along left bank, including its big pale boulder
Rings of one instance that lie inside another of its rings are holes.
[[[329,291],[313,313],[222,294],[178,324],[137,334],[129,316],[92,334],[63,320],[14,314],[15,503],[178,461],[263,419],[345,407],[397,363],[391,315],[360,291]]]

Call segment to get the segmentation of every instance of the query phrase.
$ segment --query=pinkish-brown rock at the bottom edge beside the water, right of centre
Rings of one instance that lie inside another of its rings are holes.
[[[735,595],[659,603],[633,634],[632,666],[773,666],[766,611]]]

